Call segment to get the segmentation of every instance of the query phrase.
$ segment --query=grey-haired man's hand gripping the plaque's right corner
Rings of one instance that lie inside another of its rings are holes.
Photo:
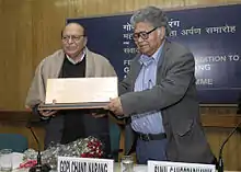
[[[111,102],[104,108],[108,110],[108,111],[112,111],[116,115],[119,115],[119,116],[124,115],[123,106],[122,106],[122,102],[120,102],[119,98],[111,99]]]

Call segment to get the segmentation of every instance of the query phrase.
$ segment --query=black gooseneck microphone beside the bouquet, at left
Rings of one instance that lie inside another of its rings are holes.
[[[34,122],[36,123],[36,122]],[[31,130],[36,144],[37,144],[37,164],[35,167],[32,167],[28,172],[49,172],[51,170],[49,164],[42,164],[42,156],[41,156],[41,144],[37,139],[34,130],[32,129],[33,122],[28,122],[26,127]]]

